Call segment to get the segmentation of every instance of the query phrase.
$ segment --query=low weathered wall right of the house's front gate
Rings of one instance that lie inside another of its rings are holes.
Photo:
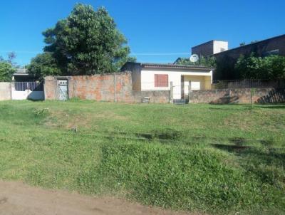
[[[190,103],[285,103],[285,89],[276,88],[240,88],[221,90],[192,90]]]

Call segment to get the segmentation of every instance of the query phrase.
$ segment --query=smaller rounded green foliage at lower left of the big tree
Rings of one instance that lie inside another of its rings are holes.
[[[28,73],[42,78],[47,75],[63,75],[51,53],[41,53],[27,66]]]

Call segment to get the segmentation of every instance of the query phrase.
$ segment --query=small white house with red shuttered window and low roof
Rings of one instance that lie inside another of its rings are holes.
[[[175,65],[160,63],[125,63],[122,71],[131,71],[133,90],[170,90],[173,98],[181,99],[191,90],[211,89],[213,68],[202,65]]]

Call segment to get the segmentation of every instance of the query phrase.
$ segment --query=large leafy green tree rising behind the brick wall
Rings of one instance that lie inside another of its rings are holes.
[[[71,14],[43,32],[46,46],[28,66],[37,75],[93,75],[120,69],[130,48],[104,8],[76,4]],[[46,61],[45,61],[46,60]]]

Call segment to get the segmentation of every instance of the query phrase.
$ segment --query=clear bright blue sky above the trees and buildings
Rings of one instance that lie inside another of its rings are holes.
[[[285,33],[284,0],[10,0],[1,1],[0,56],[15,51],[17,63],[29,63],[44,46],[41,32],[78,2],[105,6],[139,62],[172,63],[212,39],[234,48]]]

